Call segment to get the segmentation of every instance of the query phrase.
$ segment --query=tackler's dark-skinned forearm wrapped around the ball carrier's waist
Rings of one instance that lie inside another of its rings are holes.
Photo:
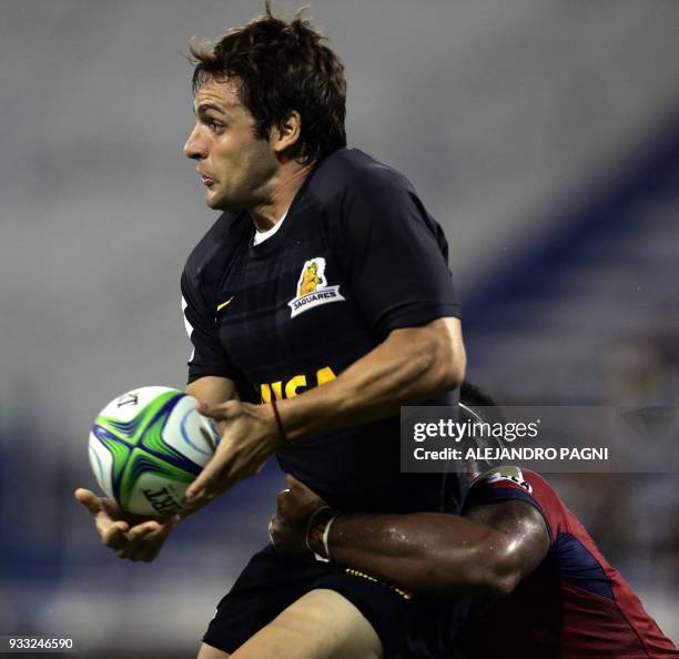
[[[322,543],[310,538],[317,554]],[[333,561],[414,592],[439,596],[503,594],[507,537],[465,517],[338,515],[328,534]]]

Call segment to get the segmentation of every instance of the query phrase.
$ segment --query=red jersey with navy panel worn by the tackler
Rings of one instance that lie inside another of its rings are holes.
[[[540,476],[501,467],[473,485],[465,508],[514,499],[543,515],[549,551],[510,595],[474,616],[463,635],[465,657],[679,658],[620,572]]]

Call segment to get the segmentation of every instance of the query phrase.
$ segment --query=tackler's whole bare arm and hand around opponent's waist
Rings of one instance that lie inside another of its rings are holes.
[[[322,501],[303,485],[291,485],[278,497],[271,530],[276,548],[302,554],[302,520]],[[324,555],[313,534],[310,541]],[[530,504],[511,500],[477,506],[464,517],[340,514],[328,547],[333,561],[413,592],[503,596],[545,558],[549,536]]]

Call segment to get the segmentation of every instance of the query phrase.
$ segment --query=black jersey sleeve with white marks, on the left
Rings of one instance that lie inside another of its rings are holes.
[[[207,375],[236,379],[236,371],[220,343],[214,310],[210,310],[196,282],[184,270],[181,280],[182,310],[193,345],[189,358],[189,384]]]

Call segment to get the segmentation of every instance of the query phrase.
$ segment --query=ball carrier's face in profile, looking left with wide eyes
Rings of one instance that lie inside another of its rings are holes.
[[[254,118],[239,100],[236,84],[209,80],[195,95],[194,112],[184,153],[197,163],[207,205],[242,211],[267,203],[278,161],[270,142],[254,136]]]

